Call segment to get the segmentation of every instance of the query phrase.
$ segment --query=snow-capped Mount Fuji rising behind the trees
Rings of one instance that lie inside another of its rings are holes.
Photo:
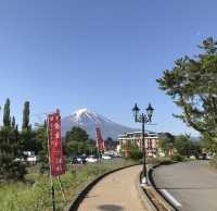
[[[90,138],[95,139],[95,127],[99,126],[102,132],[102,136],[104,139],[107,137],[112,137],[116,139],[118,135],[126,132],[135,132],[137,129],[120,125],[115,123],[103,115],[100,115],[93,111],[89,111],[87,109],[80,109],[62,119],[62,134],[65,136],[66,132],[72,129],[72,127],[78,126],[84,128]]]

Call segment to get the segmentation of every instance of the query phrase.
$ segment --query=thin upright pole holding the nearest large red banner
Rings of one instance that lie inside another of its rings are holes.
[[[52,178],[52,174],[51,174],[50,139],[49,139],[49,117],[48,117],[48,114],[47,114],[47,136],[48,136],[48,159],[49,159],[49,169],[50,169],[52,208],[53,208],[53,211],[55,211],[55,190],[54,190],[54,187],[53,187],[53,178]]]

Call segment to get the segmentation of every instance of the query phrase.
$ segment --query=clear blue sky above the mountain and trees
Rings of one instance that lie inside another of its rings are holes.
[[[155,80],[216,37],[216,0],[1,0],[0,104],[9,97],[18,121],[29,100],[31,114],[88,108],[139,126],[133,103],[152,102],[150,129],[195,134]]]

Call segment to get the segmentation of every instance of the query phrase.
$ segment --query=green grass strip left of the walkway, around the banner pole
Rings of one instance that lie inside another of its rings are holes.
[[[56,179],[55,188],[56,210],[63,210],[72,199],[97,176],[119,166],[135,163],[131,160],[115,159],[103,163],[87,165],[67,165],[67,173],[61,176],[66,201]],[[38,173],[37,166],[28,169],[26,183],[0,184],[0,211],[51,211],[50,179],[48,175]]]

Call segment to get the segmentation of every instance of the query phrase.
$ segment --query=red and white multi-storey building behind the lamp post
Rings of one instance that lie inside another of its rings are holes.
[[[156,133],[145,133],[144,135],[146,157],[156,157],[158,151],[158,135]],[[135,145],[142,151],[142,133],[126,133],[119,136],[120,151],[125,157],[129,157],[129,146]]]

